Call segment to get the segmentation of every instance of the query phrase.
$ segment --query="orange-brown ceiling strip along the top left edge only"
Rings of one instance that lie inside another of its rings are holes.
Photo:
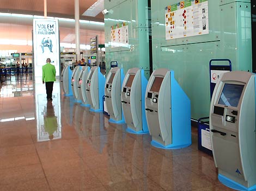
[[[89,21],[103,22],[104,16],[100,14],[95,17],[82,16],[90,6],[97,0],[80,0],[80,18]],[[16,14],[41,15],[44,16],[44,0],[1,0],[0,12],[10,12]],[[48,0],[47,16],[74,18],[75,0]]]

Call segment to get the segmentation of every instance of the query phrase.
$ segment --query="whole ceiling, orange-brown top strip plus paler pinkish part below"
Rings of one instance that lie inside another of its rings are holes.
[[[80,20],[104,22],[103,14],[82,16],[97,0],[80,0]],[[0,0],[0,12],[44,16],[44,0]],[[47,16],[74,18],[75,0],[48,0]],[[0,39],[32,41],[33,18],[0,16]],[[60,43],[75,43],[75,22],[59,21]],[[104,26],[80,23],[80,44],[90,44],[90,38],[98,35],[99,43],[105,42]],[[0,50],[7,49],[2,45]]]

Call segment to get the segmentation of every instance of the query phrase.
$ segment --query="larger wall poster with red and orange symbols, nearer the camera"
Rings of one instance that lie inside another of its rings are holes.
[[[209,34],[206,0],[185,0],[168,5],[164,17],[166,40]]]

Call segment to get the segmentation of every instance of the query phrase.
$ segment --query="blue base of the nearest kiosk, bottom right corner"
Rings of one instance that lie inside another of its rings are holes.
[[[256,191],[256,184],[252,187],[246,188],[245,186],[228,179],[228,177],[223,176],[222,174],[218,174],[218,180],[223,183],[225,186],[241,191]]]

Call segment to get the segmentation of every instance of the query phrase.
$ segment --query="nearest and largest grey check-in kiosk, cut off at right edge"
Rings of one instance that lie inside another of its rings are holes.
[[[256,190],[255,74],[227,72],[210,107],[212,154],[218,179],[237,190]]]

